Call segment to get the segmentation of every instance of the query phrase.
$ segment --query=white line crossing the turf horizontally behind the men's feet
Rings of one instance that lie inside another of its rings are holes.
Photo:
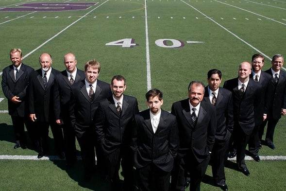
[[[260,160],[286,160],[286,156],[259,156]],[[0,155],[1,160],[65,160],[58,156],[44,156],[40,159],[36,155]],[[82,160],[81,156],[77,156],[78,160]],[[228,158],[228,160],[236,160],[234,158]],[[251,156],[245,156],[245,160],[253,160]]]

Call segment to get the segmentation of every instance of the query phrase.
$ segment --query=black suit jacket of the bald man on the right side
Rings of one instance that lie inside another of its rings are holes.
[[[260,103],[259,84],[250,78],[243,95],[238,89],[238,78],[225,81],[223,87],[233,93],[235,124],[238,125],[246,135],[250,135],[255,126],[255,108],[259,104],[264,105],[264,103]]]

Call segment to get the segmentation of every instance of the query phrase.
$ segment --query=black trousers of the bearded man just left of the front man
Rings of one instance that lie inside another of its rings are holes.
[[[129,150],[129,147],[124,147],[122,145],[120,148],[118,148],[111,154],[105,155],[104,158],[107,177],[111,180],[112,190],[118,190],[118,172],[120,169],[121,162],[122,172],[124,173],[123,190],[132,191],[135,178],[133,170],[132,152]]]

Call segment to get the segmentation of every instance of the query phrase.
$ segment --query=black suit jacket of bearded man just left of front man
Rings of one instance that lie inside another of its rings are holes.
[[[129,148],[132,141],[132,121],[139,112],[137,99],[124,95],[121,115],[117,112],[113,96],[102,100],[93,118],[97,141],[105,155],[120,146]]]

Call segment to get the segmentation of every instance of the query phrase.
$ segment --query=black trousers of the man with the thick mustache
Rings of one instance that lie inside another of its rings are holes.
[[[185,175],[190,174],[190,191],[200,191],[202,178],[206,172],[210,156],[198,163],[193,154],[188,153],[183,158],[177,158],[171,173],[171,191],[185,191]]]

